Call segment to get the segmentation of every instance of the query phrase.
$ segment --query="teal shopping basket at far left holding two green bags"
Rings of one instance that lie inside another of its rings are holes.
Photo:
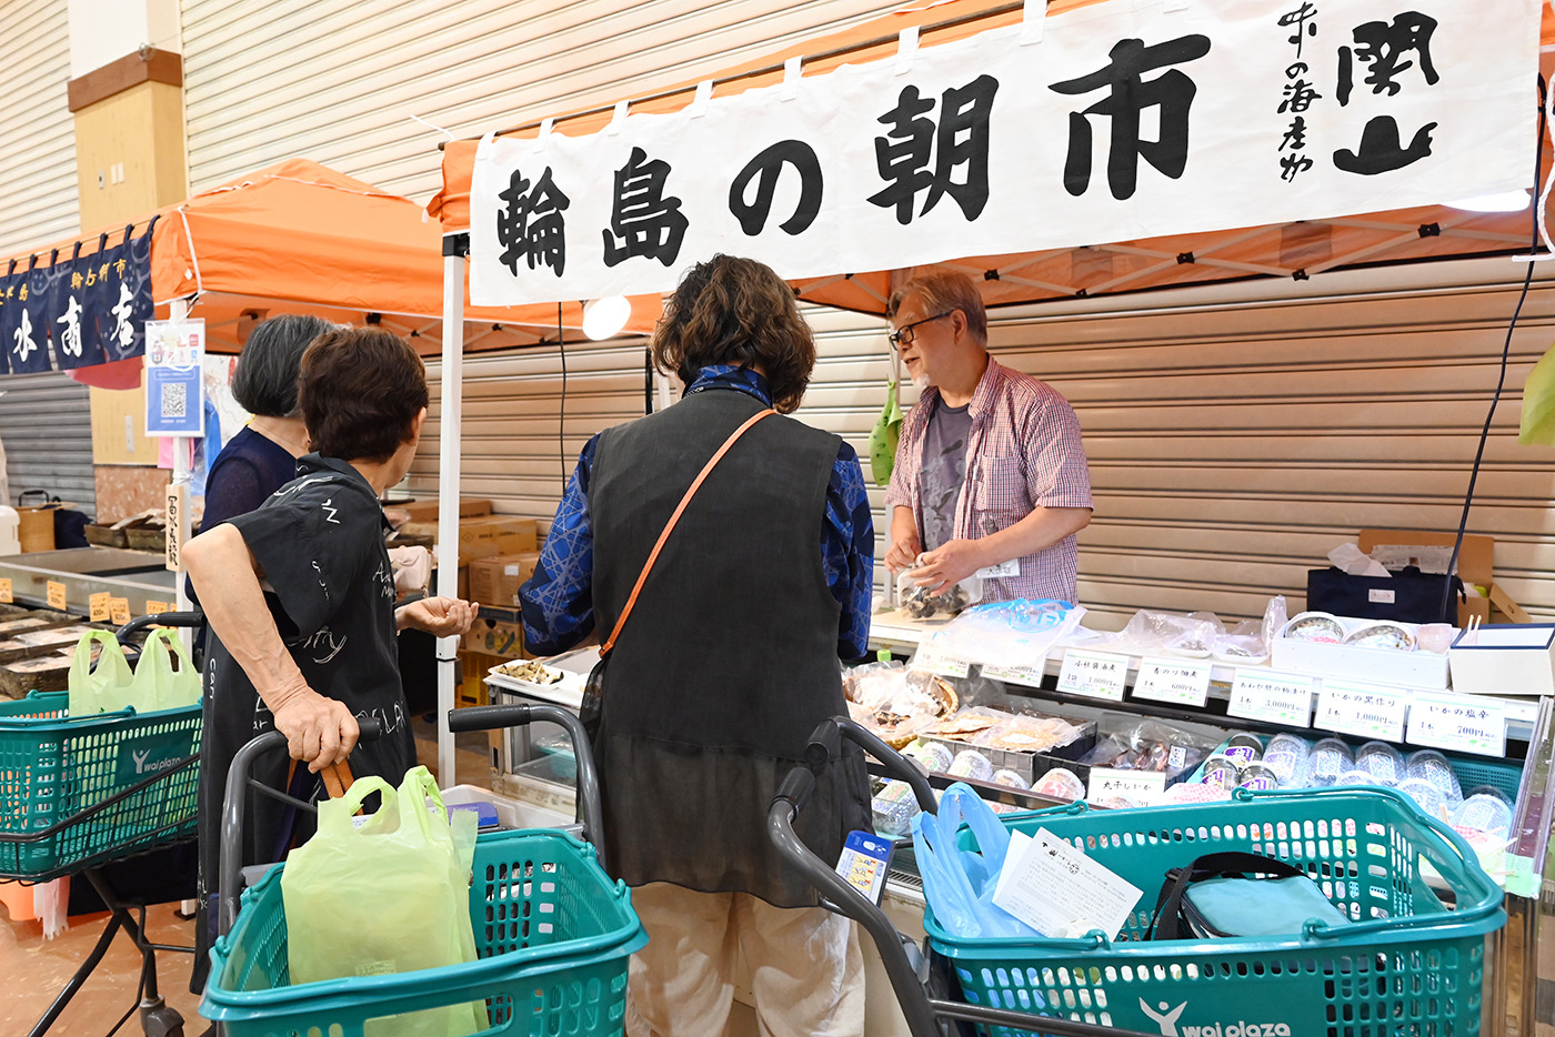
[[[68,717],[0,704],[0,877],[44,880],[194,832],[201,706]]]

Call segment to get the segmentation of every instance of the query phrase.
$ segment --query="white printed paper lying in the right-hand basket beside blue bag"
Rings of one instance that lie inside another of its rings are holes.
[[[994,903],[1043,936],[1084,936],[1098,928],[1116,939],[1141,891],[1047,829],[1011,832]]]

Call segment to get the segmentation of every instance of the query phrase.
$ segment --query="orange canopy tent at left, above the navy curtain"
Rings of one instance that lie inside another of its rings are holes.
[[[288,159],[201,191],[137,219],[132,235],[151,239],[151,291],[159,314],[171,300],[204,317],[208,348],[236,353],[249,328],[281,312],[327,320],[373,319],[409,337],[425,353],[442,344],[443,267],[437,224],[420,205],[334,169]],[[124,225],[95,230],[17,257],[68,257],[117,244]],[[6,260],[0,258],[0,269]],[[376,317],[369,317],[376,314]],[[557,305],[474,308],[465,312],[463,348],[499,350],[555,339]],[[561,305],[561,323],[578,328],[580,303]],[[644,326],[639,322],[639,326]]]

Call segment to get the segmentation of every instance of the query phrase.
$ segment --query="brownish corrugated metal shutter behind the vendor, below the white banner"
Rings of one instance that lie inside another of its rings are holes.
[[[1256,616],[1272,592],[1294,611],[1306,571],[1359,529],[1455,529],[1518,272],[1487,260],[1154,292],[1126,312],[1098,312],[1116,299],[995,311],[1000,362],[1051,382],[1085,429],[1090,622],[1118,627],[1148,606]],[[866,459],[889,370],[883,323],[805,312],[819,361],[796,417]],[[1497,581],[1535,616],[1555,616],[1555,449],[1516,432],[1552,325],[1555,281],[1535,281],[1469,516],[1469,532],[1496,538]],[[465,493],[546,519],[586,437],[642,414],[641,345],[569,348],[568,365],[558,451],[554,347],[465,362]],[[421,493],[437,485],[434,432],[412,474]],[[871,488],[877,555],[883,496]]]

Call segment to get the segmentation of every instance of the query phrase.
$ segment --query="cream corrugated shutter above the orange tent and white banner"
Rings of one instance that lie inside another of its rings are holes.
[[[64,0],[58,0],[64,6]],[[894,9],[880,0],[183,0],[190,185],[306,155],[414,197],[440,134],[652,93]],[[753,9],[754,8],[754,9]]]

